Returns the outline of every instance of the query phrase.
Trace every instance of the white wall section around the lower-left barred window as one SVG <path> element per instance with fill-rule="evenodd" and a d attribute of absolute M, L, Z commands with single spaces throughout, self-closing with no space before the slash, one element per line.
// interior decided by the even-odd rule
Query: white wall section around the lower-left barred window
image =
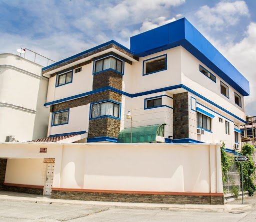
<path fill-rule="evenodd" d="M 79 131 L 88 132 L 90 104 L 69 109 L 68 124 L 51 126 L 52 113 L 49 116 L 48 136 Z"/>

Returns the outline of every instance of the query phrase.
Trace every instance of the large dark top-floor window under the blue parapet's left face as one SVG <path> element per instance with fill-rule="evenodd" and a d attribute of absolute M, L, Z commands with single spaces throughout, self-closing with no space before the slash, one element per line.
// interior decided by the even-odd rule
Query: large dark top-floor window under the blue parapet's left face
<path fill-rule="evenodd" d="M 143 75 L 167 69 L 166 55 L 157 56 L 143 61 Z"/>

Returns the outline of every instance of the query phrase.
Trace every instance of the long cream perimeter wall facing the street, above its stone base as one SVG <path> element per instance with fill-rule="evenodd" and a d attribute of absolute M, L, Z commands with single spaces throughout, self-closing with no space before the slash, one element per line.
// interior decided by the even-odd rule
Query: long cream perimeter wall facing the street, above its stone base
<path fill-rule="evenodd" d="M 40 147 L 47 153 L 39 153 Z M 0 144 L 0 157 L 55 158 L 55 188 L 223 192 L 220 148 L 214 144 Z M 30 163 L 22 161 L 27 180 L 41 175 L 40 167 L 30 171 Z M 21 173 L 19 165 L 15 172 Z"/>

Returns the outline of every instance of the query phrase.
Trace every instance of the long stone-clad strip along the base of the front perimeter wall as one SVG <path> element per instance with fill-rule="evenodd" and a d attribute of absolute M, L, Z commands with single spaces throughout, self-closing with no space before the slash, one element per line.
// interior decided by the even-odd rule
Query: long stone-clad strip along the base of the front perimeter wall
<path fill-rule="evenodd" d="M 107 201 L 155 204 L 207 204 L 223 205 L 223 196 L 158 195 L 158 194 L 118 194 L 74 191 L 52 191 L 52 199 L 83 201 Z"/>

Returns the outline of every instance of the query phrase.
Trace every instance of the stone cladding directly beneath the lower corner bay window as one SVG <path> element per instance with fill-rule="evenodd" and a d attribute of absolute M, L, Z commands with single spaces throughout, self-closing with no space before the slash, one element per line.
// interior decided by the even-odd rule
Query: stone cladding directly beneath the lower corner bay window
<path fill-rule="evenodd" d="M 111 117 L 103 117 L 89 120 L 88 138 L 92 137 L 114 137 L 120 132 L 120 120 Z"/>

